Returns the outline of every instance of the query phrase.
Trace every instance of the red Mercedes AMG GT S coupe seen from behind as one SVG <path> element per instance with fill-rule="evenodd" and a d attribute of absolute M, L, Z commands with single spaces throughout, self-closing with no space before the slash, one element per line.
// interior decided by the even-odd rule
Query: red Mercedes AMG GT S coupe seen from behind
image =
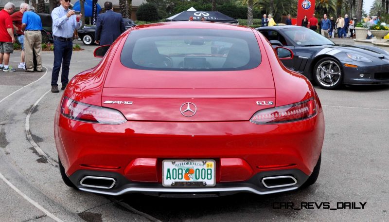
<path fill-rule="evenodd" d="M 97 48 L 95 56 L 109 46 Z M 255 29 L 136 26 L 68 84 L 54 135 L 64 182 L 121 195 L 269 194 L 318 178 L 318 95 Z"/>

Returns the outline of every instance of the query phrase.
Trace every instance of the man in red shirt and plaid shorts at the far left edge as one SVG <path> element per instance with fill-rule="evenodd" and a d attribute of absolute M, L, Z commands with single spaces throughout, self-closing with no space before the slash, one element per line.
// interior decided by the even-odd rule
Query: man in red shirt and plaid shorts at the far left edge
<path fill-rule="evenodd" d="M 0 71 L 15 72 L 8 65 L 9 54 L 14 52 L 14 26 L 12 24 L 11 14 L 15 11 L 15 5 L 8 2 L 4 9 L 0 11 Z"/>

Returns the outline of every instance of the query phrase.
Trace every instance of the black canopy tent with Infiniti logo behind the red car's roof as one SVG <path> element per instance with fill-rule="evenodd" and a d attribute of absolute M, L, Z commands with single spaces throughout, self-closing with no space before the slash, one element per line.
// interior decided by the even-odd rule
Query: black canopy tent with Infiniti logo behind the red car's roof
<path fill-rule="evenodd" d="M 201 17 L 204 17 L 207 21 L 238 24 L 238 20 L 232 19 L 231 17 L 216 11 L 183 11 L 165 20 L 166 21 L 188 21 L 189 17 L 191 16 L 193 16 L 194 21 L 201 21 Z"/>

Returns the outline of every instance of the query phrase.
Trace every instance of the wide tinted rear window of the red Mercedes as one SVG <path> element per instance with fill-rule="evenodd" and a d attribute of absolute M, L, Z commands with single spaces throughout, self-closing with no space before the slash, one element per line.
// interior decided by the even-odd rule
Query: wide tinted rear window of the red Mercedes
<path fill-rule="evenodd" d="M 153 29 L 131 31 L 120 60 L 142 70 L 228 71 L 257 67 L 261 53 L 253 32 Z"/>

